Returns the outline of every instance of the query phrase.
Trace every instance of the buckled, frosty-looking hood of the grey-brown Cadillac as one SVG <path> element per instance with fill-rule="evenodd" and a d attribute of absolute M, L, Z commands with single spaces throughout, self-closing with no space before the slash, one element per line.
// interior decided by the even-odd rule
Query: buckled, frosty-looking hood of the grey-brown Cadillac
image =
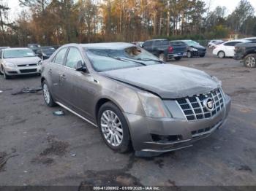
<path fill-rule="evenodd" d="M 203 71 L 171 64 L 157 64 L 129 69 L 104 71 L 116 79 L 159 95 L 161 98 L 184 98 L 219 87 L 220 82 Z"/>

